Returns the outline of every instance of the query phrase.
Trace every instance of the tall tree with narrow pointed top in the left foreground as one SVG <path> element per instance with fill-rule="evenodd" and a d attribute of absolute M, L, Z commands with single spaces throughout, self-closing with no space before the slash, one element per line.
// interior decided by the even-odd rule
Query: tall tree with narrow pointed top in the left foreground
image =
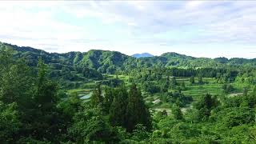
<path fill-rule="evenodd" d="M 26 133 L 38 140 L 54 141 L 53 135 L 60 133 L 62 118 L 57 110 L 58 85 L 47 78 L 46 65 L 40 59 L 38 62 L 38 76 L 34 86 L 33 106 L 23 122 L 26 122 Z"/>

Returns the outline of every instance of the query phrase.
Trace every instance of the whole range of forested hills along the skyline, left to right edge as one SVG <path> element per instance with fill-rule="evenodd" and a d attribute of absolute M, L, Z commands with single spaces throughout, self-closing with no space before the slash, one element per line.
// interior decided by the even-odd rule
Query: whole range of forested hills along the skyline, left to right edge
<path fill-rule="evenodd" d="M 117 51 L 89 50 L 88 52 L 69 52 L 65 54 L 47 53 L 31 47 L 20 47 L 6 43 L 0 43 L 0 48 L 10 48 L 16 52 L 19 58 L 26 58 L 31 66 L 35 66 L 38 58 L 42 58 L 56 70 L 63 67 L 73 71 L 75 68 L 87 67 L 91 70 L 98 70 L 100 73 L 114 74 L 119 70 L 131 70 L 137 67 L 216 67 L 216 66 L 250 66 L 256 67 L 256 58 L 194 58 L 177 53 L 165 53 L 161 56 L 134 58 Z"/>

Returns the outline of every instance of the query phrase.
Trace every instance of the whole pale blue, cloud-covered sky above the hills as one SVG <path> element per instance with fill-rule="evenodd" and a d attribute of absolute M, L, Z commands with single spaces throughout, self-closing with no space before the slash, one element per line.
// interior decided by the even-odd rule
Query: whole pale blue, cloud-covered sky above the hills
<path fill-rule="evenodd" d="M 0 42 L 58 53 L 256 58 L 256 1 L 1 1 Z"/>

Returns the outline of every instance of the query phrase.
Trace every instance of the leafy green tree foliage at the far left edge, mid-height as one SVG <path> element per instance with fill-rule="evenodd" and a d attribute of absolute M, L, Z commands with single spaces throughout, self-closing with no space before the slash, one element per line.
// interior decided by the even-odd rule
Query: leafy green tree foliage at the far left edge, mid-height
<path fill-rule="evenodd" d="M 20 107 L 30 93 L 32 78 L 26 63 L 15 61 L 12 54 L 10 49 L 0 50 L 0 100 L 4 103 L 17 102 Z"/>

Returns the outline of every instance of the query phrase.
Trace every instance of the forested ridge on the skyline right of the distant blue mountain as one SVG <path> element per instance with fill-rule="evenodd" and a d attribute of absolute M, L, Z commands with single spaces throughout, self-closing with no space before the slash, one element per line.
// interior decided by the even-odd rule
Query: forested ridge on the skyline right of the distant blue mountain
<path fill-rule="evenodd" d="M 194 58 L 184 54 L 165 53 L 150 58 L 140 58 L 144 66 L 166 66 L 182 68 L 216 67 L 216 66 L 256 66 L 256 58 Z"/>

